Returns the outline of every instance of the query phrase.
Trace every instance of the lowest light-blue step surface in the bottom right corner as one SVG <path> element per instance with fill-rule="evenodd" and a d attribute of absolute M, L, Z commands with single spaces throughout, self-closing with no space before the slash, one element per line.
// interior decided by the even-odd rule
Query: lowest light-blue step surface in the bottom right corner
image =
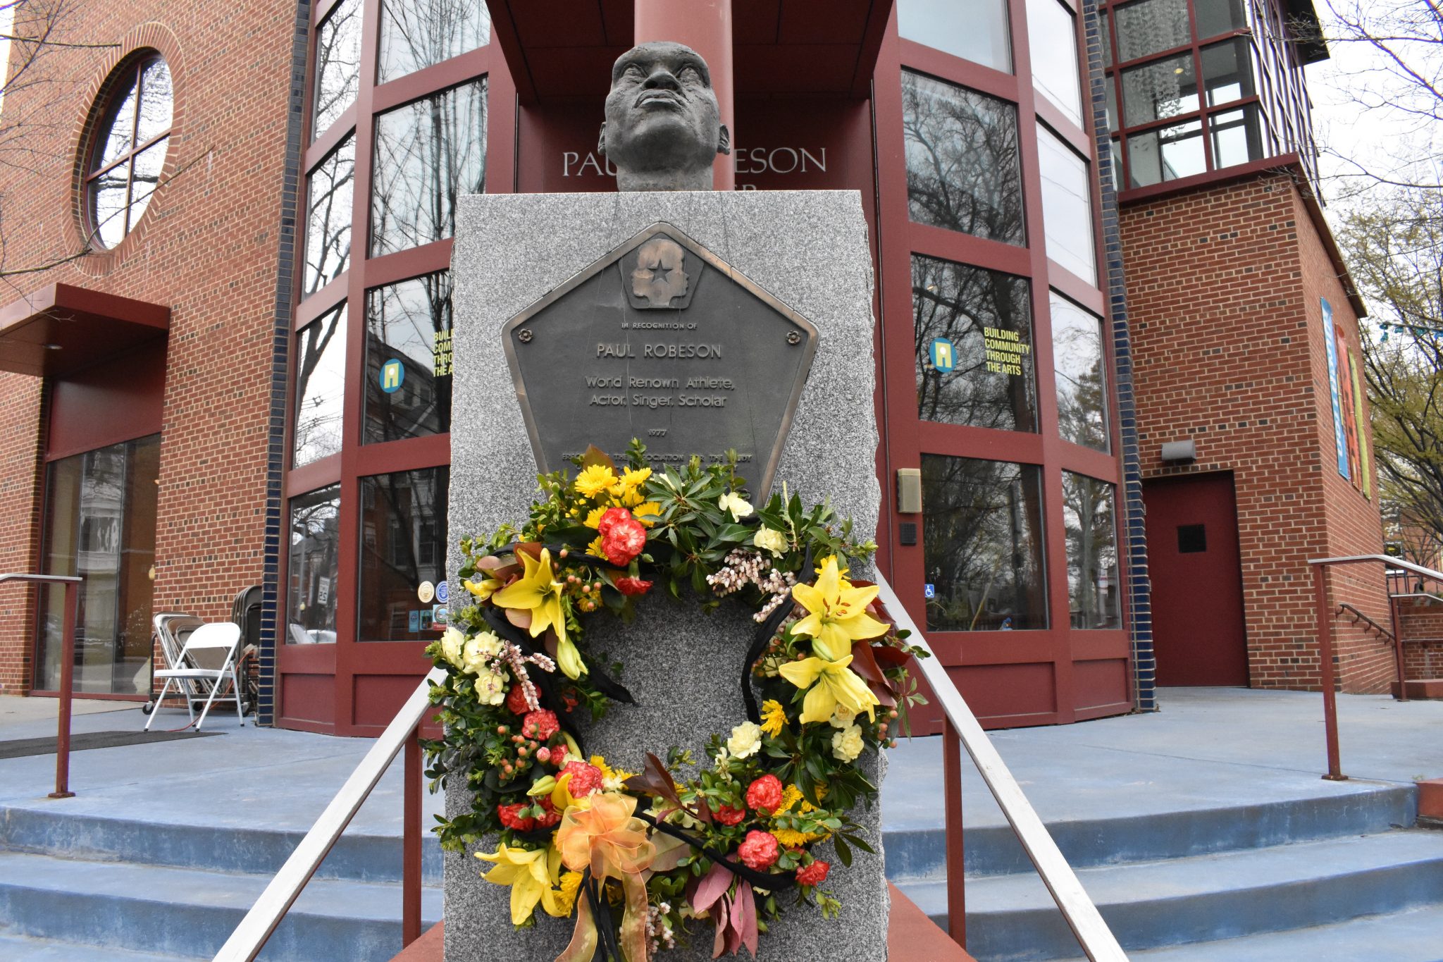
<path fill-rule="evenodd" d="M 1443 906 L 1364 916 L 1293 932 L 1133 952 L 1131 958 L 1146 962 L 1443 962 Z"/>

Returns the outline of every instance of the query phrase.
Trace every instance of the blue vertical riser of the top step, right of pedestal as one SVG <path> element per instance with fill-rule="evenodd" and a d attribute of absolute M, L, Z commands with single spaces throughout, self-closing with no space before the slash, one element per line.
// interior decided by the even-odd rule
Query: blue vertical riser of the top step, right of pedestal
<path fill-rule="evenodd" d="M 1087 868 L 1367 835 L 1414 824 L 1418 813 L 1414 786 L 1378 783 L 1369 787 L 1349 795 L 1255 805 L 1053 819 L 1048 822 L 1048 831 L 1069 865 Z M 900 884 L 945 873 L 945 838 L 941 825 L 886 831 L 887 878 Z M 965 864 L 968 878 L 1032 871 L 1032 861 L 1007 825 L 968 826 Z"/>

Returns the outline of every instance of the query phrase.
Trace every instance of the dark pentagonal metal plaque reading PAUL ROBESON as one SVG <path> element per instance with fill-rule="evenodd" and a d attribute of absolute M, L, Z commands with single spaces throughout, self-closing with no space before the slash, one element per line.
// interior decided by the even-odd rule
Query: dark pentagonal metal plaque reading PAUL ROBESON
<path fill-rule="evenodd" d="M 671 224 L 654 224 L 502 327 L 543 472 L 631 438 L 652 467 L 720 462 L 765 498 L 817 329 Z"/>

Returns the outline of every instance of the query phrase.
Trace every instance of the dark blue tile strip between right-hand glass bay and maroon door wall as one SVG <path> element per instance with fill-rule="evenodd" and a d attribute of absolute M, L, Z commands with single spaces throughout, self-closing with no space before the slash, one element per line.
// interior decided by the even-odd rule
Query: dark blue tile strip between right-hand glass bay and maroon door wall
<path fill-rule="evenodd" d="M 1127 280 L 1123 273 L 1123 239 L 1118 229 L 1117 185 L 1113 183 L 1111 134 L 1107 128 L 1107 78 L 1102 72 L 1102 35 L 1097 0 L 1082 1 L 1087 37 L 1088 89 L 1092 97 L 1092 133 L 1098 143 L 1098 179 L 1102 185 L 1102 248 L 1107 297 L 1113 314 L 1113 385 L 1117 424 L 1123 441 L 1123 541 L 1127 551 L 1128 639 L 1133 650 L 1134 707 L 1156 711 L 1153 658 L 1152 581 L 1147 575 L 1147 531 L 1143 513 L 1143 469 L 1137 454 L 1137 404 L 1133 395 L 1133 342 L 1127 327 Z"/>

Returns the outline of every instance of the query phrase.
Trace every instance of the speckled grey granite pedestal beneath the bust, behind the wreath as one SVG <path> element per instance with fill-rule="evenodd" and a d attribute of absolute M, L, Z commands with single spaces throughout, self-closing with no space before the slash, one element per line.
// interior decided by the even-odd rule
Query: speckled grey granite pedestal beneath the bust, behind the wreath
<path fill-rule="evenodd" d="M 450 571 L 465 535 L 491 534 L 525 519 L 535 495 L 535 462 L 517 410 L 502 352 L 502 325 L 649 224 L 681 228 L 736 271 L 817 326 L 820 345 L 778 467 L 808 502 L 831 499 L 866 538 L 876 531 L 877 433 L 873 408 L 872 257 L 856 192 L 678 192 L 595 195 L 489 195 L 460 202 L 452 261 L 455 281 L 455 368 L 450 473 Z M 700 443 L 700 441 L 698 441 Z M 752 492 L 765 500 L 765 492 Z M 864 571 L 854 570 L 854 577 Z M 452 586 L 463 597 L 459 584 Z M 612 764 L 639 770 L 644 754 L 670 746 L 704 757 L 710 734 L 745 720 L 739 691 L 742 661 L 753 635 L 749 612 L 723 604 L 701 614 L 694 601 L 645 597 L 635 623 L 608 617 L 589 623 L 587 646 L 620 661 L 635 705 L 615 705 L 596 725 L 583 725 L 587 750 Z M 880 782 L 885 759 L 864 756 Z M 468 805 L 460 789 L 447 811 Z M 834 864 L 825 888 L 843 903 L 841 919 L 789 907 L 760 942 L 759 958 L 775 962 L 885 959 L 887 887 L 882 873 L 880 813 L 854 818 L 876 855 L 854 852 Z M 495 839 L 485 839 L 494 851 Z M 566 946 L 573 920 L 540 917 L 512 929 L 509 890 L 481 878 L 486 865 L 470 854 L 446 857 L 446 959 L 548 962 Z M 540 914 L 540 913 L 538 913 Z M 662 955 L 675 962 L 711 958 L 710 922 L 696 926 L 688 948 Z"/>

